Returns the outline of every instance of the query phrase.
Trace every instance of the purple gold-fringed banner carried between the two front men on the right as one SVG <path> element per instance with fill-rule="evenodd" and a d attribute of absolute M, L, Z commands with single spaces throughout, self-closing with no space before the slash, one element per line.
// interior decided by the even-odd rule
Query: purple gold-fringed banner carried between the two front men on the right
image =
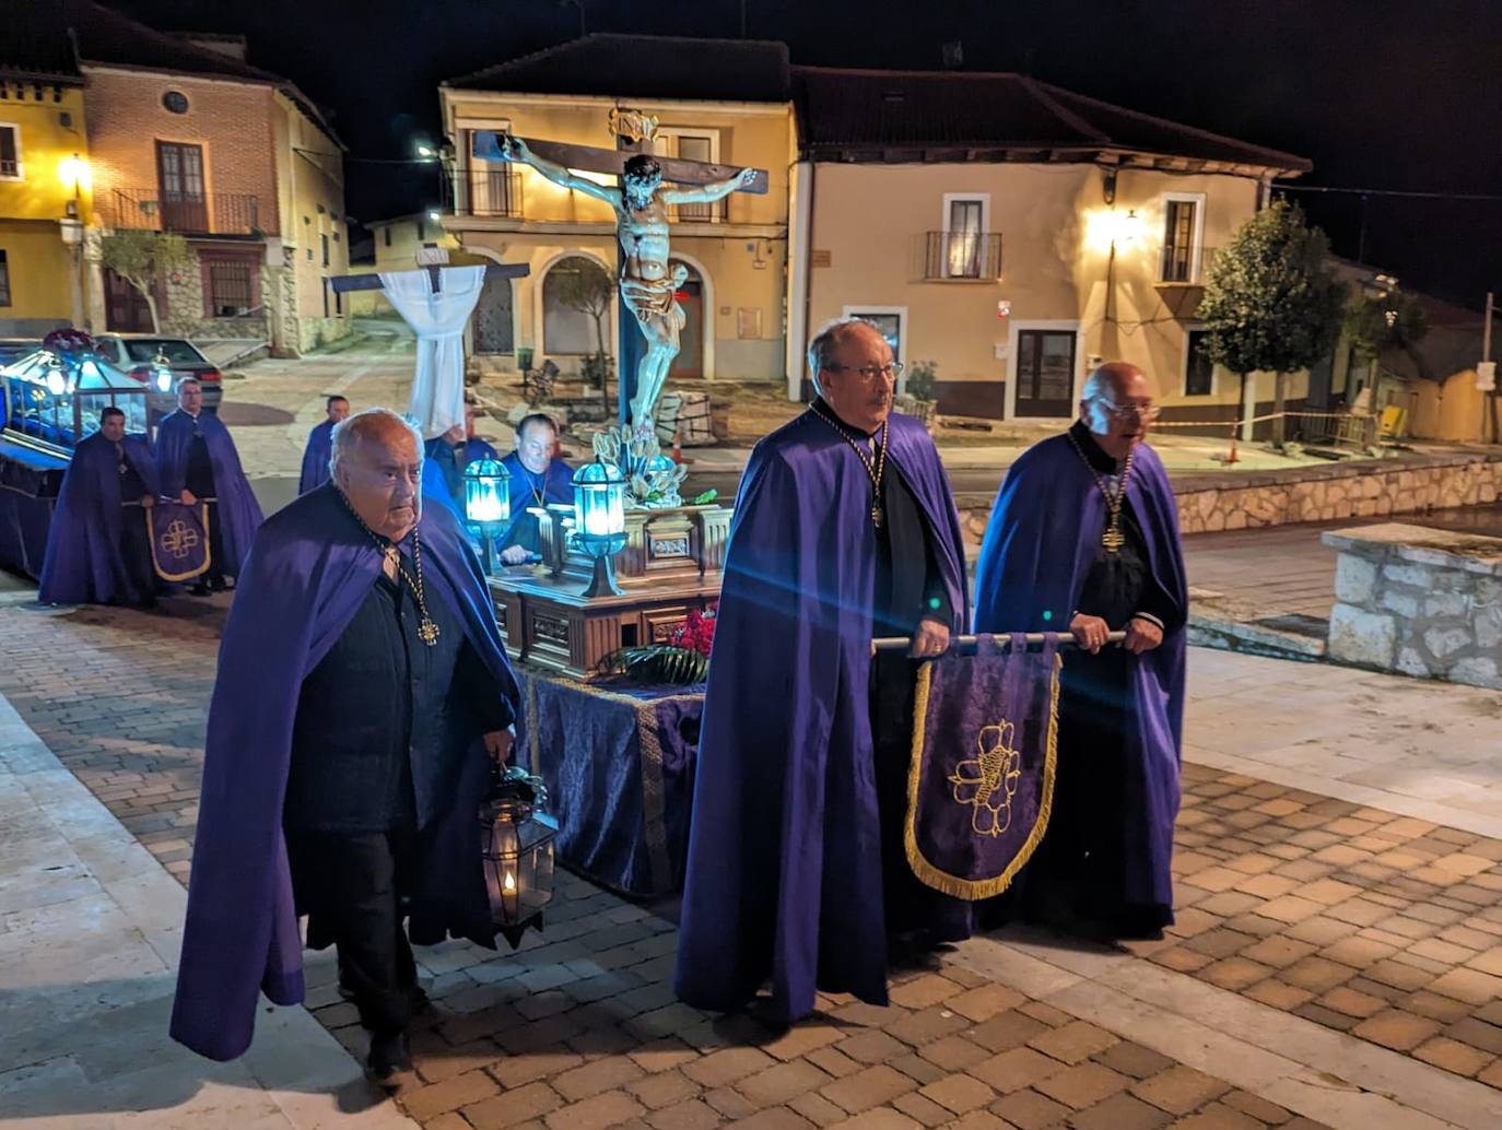
<path fill-rule="evenodd" d="M 1005 638 L 1000 638 L 1005 639 Z M 957 899 L 1000 894 L 1038 848 L 1053 804 L 1059 636 L 1027 651 L 976 636 L 973 656 L 918 672 L 907 861 Z"/>

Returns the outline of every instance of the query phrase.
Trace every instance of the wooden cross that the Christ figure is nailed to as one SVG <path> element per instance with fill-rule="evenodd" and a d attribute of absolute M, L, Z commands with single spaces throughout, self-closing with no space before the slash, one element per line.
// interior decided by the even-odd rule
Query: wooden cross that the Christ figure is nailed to
<path fill-rule="evenodd" d="M 472 134 L 470 155 L 479 161 L 505 161 L 502 146 L 509 135 L 503 131 L 496 129 L 479 129 Z M 584 173 L 608 173 L 617 177 L 617 185 L 620 185 L 622 192 L 625 191 L 623 183 L 619 180 L 625 173 L 626 162 L 640 155 L 650 153 L 644 141 L 629 140 L 623 134 L 616 135 L 616 149 L 595 149 L 592 146 L 574 146 L 563 141 L 533 141 L 532 138 L 523 138 L 536 156 L 544 161 L 551 161 L 556 165 L 562 165 L 568 170 L 584 171 Z M 740 173 L 739 167 L 734 165 L 716 165 L 707 161 L 685 161 L 682 158 L 665 158 L 650 153 L 653 161 L 662 170 L 662 180 L 673 182 L 676 185 L 712 185 L 715 182 L 728 180 Z M 766 170 L 756 170 L 756 179 L 749 183 L 737 188 L 737 192 L 749 192 L 753 195 L 766 195 L 769 186 L 769 177 Z M 620 242 L 616 242 L 616 279 L 619 281 L 623 275 L 625 263 L 622 261 Z M 706 314 L 706 318 L 712 320 L 713 312 Z M 625 303 L 620 299 L 619 290 L 616 294 L 616 327 L 617 327 L 617 390 L 619 390 L 619 413 L 620 422 L 625 425 L 631 419 L 629 404 L 637 393 L 637 371 L 643 354 L 646 353 L 646 344 L 640 333 L 635 333 L 635 318 L 625 309 Z"/>

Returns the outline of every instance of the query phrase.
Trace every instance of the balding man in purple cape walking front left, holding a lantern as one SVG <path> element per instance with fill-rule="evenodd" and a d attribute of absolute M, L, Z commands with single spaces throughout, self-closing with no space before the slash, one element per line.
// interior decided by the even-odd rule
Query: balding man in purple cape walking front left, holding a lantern
<path fill-rule="evenodd" d="M 261 527 L 230 609 L 171 1034 L 245 1052 L 258 993 L 302 1001 L 308 914 L 371 1031 L 371 1076 L 397 1089 L 409 936 L 494 944 L 476 813 L 517 687 L 463 530 L 422 507 L 418 434 L 357 413 L 333 429 L 332 476 Z"/>

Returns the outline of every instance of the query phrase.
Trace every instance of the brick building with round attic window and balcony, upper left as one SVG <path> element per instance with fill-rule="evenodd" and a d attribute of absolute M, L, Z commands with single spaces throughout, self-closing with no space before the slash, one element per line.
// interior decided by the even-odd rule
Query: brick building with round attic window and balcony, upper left
<path fill-rule="evenodd" d="M 147 303 L 99 258 L 116 230 L 186 237 L 191 269 L 156 294 L 162 332 L 246 338 L 299 353 L 348 332 L 329 279 L 348 270 L 342 146 L 240 36 L 165 35 L 89 0 L 63 0 L 84 83 L 95 222 L 87 323 L 150 332 Z"/>

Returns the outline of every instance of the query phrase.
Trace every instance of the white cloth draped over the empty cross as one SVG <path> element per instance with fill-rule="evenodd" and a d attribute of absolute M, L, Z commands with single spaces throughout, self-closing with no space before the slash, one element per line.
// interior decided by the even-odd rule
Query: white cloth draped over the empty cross
<path fill-rule="evenodd" d="M 418 335 L 407 414 L 425 440 L 464 423 L 464 327 L 485 284 L 484 266 L 442 267 L 440 275 L 434 294 L 427 269 L 380 272 L 386 297 Z"/>

